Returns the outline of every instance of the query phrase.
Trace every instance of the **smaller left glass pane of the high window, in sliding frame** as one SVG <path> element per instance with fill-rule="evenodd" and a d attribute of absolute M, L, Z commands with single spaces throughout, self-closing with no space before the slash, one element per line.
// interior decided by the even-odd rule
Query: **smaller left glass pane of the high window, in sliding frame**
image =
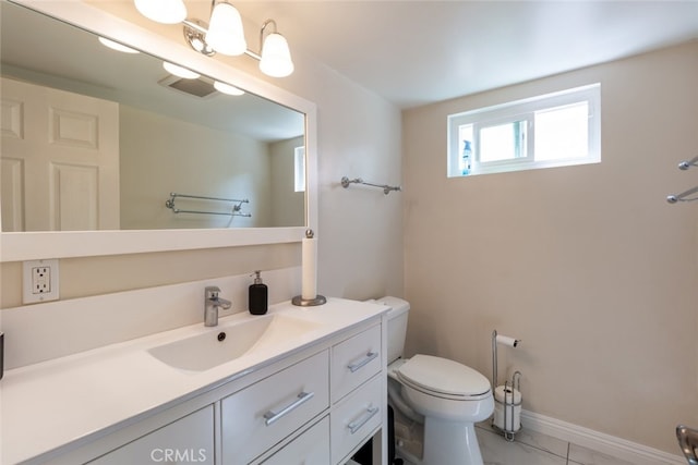
<path fill-rule="evenodd" d="M 526 157 L 526 121 L 480 130 L 480 162 Z"/>

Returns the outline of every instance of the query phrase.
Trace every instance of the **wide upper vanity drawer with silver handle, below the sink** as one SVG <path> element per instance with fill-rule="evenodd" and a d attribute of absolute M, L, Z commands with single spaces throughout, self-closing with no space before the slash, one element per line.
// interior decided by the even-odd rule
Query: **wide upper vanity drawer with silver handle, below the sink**
<path fill-rule="evenodd" d="M 323 351 L 221 401 L 222 463 L 248 464 L 329 406 Z"/>

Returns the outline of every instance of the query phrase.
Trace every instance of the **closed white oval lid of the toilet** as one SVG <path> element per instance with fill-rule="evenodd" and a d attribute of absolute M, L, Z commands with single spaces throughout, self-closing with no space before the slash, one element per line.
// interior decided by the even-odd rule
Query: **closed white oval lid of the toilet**
<path fill-rule="evenodd" d="M 398 375 L 417 389 L 435 394 L 471 397 L 490 391 L 482 374 L 458 362 L 431 355 L 414 355 L 399 367 Z"/>

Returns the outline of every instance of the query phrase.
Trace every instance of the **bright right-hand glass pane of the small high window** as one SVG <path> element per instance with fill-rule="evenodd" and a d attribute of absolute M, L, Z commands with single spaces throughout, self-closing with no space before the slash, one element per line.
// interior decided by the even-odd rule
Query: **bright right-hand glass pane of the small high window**
<path fill-rule="evenodd" d="M 534 117 L 535 160 L 583 158 L 589 152 L 589 103 L 581 101 Z"/>

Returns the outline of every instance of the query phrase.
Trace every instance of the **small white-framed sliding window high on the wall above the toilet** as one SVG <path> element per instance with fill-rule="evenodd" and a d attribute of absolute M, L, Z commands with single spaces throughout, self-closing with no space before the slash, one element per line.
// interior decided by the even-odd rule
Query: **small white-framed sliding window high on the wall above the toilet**
<path fill-rule="evenodd" d="M 598 163 L 600 85 L 448 117 L 448 176 Z"/>

